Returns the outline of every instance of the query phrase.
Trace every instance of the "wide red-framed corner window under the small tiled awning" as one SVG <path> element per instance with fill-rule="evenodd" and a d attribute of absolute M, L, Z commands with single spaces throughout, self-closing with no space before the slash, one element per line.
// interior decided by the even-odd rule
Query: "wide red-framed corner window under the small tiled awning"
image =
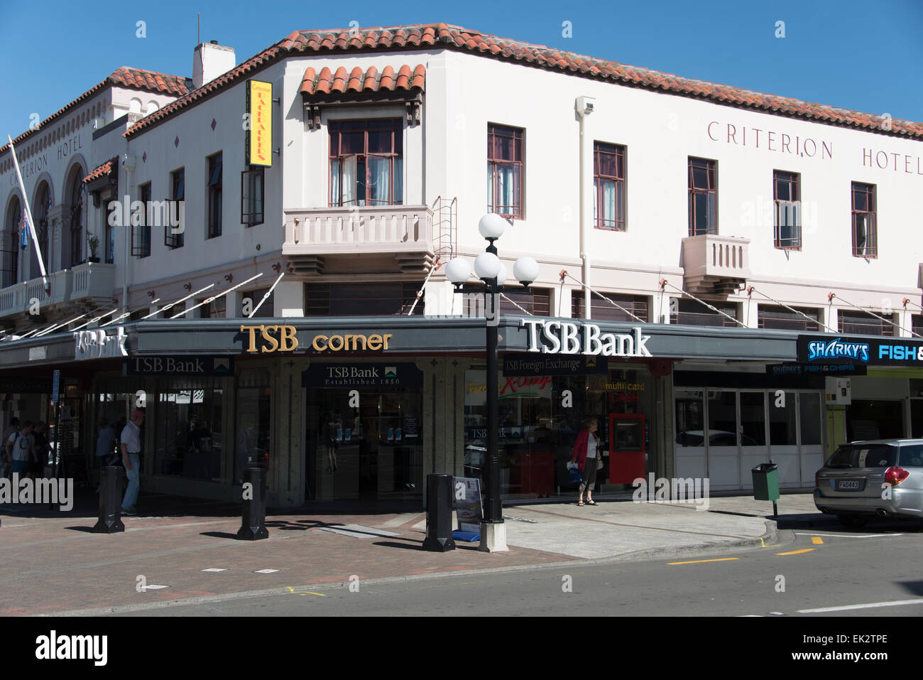
<path fill-rule="evenodd" d="M 331 120 L 330 205 L 402 204 L 401 118 Z"/>

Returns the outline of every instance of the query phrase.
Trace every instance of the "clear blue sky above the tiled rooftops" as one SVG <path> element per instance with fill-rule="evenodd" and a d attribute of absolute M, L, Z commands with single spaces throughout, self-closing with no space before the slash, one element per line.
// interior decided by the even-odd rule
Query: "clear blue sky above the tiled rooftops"
<path fill-rule="evenodd" d="M 348 7 L 347 7 L 348 5 Z M 117 67 L 191 76 L 201 39 L 240 63 L 293 30 L 445 22 L 569 52 L 923 121 L 923 0 L 496 0 L 401 3 L 0 0 L 0 135 L 53 114 Z M 254 8 L 257 8 L 254 10 Z M 389 8 L 385 8 L 389 7 Z M 147 37 L 137 37 L 137 22 Z M 562 25 L 571 22 L 572 37 Z M 785 37 L 776 37 L 777 21 Z"/>

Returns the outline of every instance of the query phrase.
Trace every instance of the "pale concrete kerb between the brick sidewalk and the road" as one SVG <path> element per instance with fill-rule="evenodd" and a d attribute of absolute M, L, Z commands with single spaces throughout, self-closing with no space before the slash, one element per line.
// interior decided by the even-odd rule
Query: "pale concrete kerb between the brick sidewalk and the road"
<path fill-rule="evenodd" d="M 543 565 L 511 565 L 487 567 L 485 569 L 465 569 L 464 571 L 452 572 L 433 572 L 429 574 L 408 574 L 402 577 L 382 577 L 382 578 L 365 578 L 362 580 L 363 586 L 374 586 L 389 583 L 407 583 L 417 580 L 446 578 L 446 577 L 472 577 L 479 574 L 501 574 L 517 571 L 536 571 L 547 569 L 573 568 L 574 566 L 585 565 L 610 565 L 618 562 L 634 562 L 653 559 L 668 559 L 677 556 L 701 556 L 705 554 L 722 553 L 729 550 L 740 548 L 765 548 L 767 543 L 774 543 L 778 540 L 778 529 L 772 519 L 765 520 L 766 531 L 762 536 L 752 539 L 741 539 L 720 543 L 697 543 L 689 546 L 672 546 L 665 548 L 644 548 L 630 553 L 613 555 L 611 557 L 595 557 L 590 559 L 573 559 L 565 562 L 549 562 Z M 794 537 L 792 537 L 794 538 Z M 271 597 L 273 595 L 289 595 L 297 592 L 309 592 L 318 590 L 339 590 L 348 589 L 349 582 L 343 581 L 338 583 L 311 583 L 297 587 L 270 588 L 262 590 L 243 590 L 239 592 L 222 593 L 221 595 L 206 595 L 196 598 L 184 598 L 182 600 L 166 600 L 158 602 L 146 602 L 144 604 L 126 604 L 114 607 L 100 607 L 96 609 L 75 609 L 66 612 L 51 612 L 32 614 L 33 616 L 100 616 L 102 614 L 119 614 L 135 613 L 152 609 L 165 609 L 168 607 L 182 607 L 193 604 L 207 604 L 210 602 L 221 602 L 228 600 L 243 600 L 248 598 Z"/>

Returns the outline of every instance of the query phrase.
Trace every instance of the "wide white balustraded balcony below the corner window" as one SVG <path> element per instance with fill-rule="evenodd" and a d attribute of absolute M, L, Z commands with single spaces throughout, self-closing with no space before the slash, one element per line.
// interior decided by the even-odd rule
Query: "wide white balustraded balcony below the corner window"
<path fill-rule="evenodd" d="M 296 274 L 423 273 L 433 254 L 425 205 L 285 211 L 282 255 Z"/>

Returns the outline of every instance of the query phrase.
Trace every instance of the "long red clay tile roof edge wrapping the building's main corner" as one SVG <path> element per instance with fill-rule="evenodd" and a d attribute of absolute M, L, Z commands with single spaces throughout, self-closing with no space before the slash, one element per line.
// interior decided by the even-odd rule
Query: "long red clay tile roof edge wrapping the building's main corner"
<path fill-rule="evenodd" d="M 140 130 L 157 124 L 175 111 L 207 98 L 225 85 L 243 78 L 271 62 L 291 55 L 330 54 L 343 52 L 393 52 L 443 48 L 472 52 L 477 55 L 518 62 L 522 65 L 549 70 L 568 71 L 583 78 L 607 80 L 631 87 L 666 91 L 673 94 L 709 99 L 729 106 L 765 111 L 775 115 L 817 120 L 838 126 L 868 129 L 923 139 L 923 123 L 891 120 L 891 130 L 882 129 L 879 115 L 801 102 L 789 97 L 742 90 L 730 85 L 680 78 L 649 68 L 631 67 L 614 61 L 562 52 L 545 45 L 500 38 L 495 35 L 463 29 L 449 24 L 375 27 L 356 30 L 296 30 L 243 64 L 212 80 L 197 91 L 164 106 L 160 111 L 138 121 L 124 134 L 130 137 Z"/>

